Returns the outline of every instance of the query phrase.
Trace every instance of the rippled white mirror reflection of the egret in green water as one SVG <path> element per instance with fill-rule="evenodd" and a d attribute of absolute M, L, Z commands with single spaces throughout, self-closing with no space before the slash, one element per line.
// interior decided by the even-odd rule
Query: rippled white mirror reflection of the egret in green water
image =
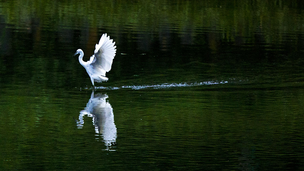
<path fill-rule="evenodd" d="M 108 98 L 108 95 L 100 93 L 94 95 L 93 91 L 87 106 L 80 111 L 77 126 L 79 128 L 83 126 L 83 116 L 92 117 L 95 132 L 102 136 L 105 145 L 108 147 L 107 149 L 109 149 L 116 142 L 117 130 L 114 124 L 113 109 L 110 103 L 106 102 L 106 98 Z"/>

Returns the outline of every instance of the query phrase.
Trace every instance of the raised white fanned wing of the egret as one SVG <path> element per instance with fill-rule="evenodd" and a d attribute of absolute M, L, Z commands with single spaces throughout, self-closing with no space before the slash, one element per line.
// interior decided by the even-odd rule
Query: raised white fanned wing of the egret
<path fill-rule="evenodd" d="M 105 76 L 105 72 L 111 70 L 112 62 L 116 53 L 116 46 L 107 33 L 103 34 L 99 43 L 95 46 L 94 55 L 90 58 L 90 65 L 93 65 L 98 74 Z"/>

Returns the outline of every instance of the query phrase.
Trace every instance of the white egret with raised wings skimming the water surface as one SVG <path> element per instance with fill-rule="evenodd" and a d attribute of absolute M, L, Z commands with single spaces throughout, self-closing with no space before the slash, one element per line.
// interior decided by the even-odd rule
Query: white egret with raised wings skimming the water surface
<path fill-rule="evenodd" d="M 79 62 L 87 70 L 93 84 L 93 89 L 95 89 L 94 82 L 108 81 L 108 78 L 105 77 L 105 72 L 109 72 L 112 67 L 116 53 L 116 46 L 114 44 L 113 39 L 110 39 L 110 36 L 107 37 L 107 33 L 105 33 L 100 38 L 99 43 L 96 44 L 94 54 L 89 61 L 85 62 L 82 60 L 84 53 L 81 49 L 78 49 L 73 55 L 80 54 L 78 57 Z"/>

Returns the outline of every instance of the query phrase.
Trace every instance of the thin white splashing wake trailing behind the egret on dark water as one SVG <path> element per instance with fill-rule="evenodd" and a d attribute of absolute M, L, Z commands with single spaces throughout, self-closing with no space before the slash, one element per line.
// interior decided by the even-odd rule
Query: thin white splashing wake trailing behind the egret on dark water
<path fill-rule="evenodd" d="M 194 83 L 163 83 L 163 84 L 156 84 L 156 85 L 123 85 L 121 87 L 96 87 L 96 89 L 106 89 L 106 90 L 116 90 L 116 89 L 133 89 L 133 90 L 140 90 L 140 89 L 168 89 L 174 87 L 190 87 L 190 86 L 200 86 L 200 85 L 216 85 L 216 84 L 225 84 L 228 81 L 206 81 L 206 82 L 194 82 Z M 91 89 L 91 88 L 85 88 Z"/>

